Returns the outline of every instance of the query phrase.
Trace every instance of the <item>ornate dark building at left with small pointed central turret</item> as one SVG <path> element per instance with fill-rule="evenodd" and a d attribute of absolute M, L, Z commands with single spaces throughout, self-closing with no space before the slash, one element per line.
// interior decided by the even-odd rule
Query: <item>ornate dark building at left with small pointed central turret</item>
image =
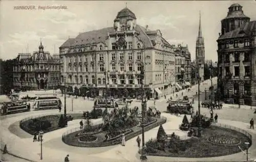
<path fill-rule="evenodd" d="M 57 88 L 60 84 L 59 55 L 44 51 L 40 42 L 39 50 L 18 53 L 13 63 L 13 87 L 26 90 Z"/>

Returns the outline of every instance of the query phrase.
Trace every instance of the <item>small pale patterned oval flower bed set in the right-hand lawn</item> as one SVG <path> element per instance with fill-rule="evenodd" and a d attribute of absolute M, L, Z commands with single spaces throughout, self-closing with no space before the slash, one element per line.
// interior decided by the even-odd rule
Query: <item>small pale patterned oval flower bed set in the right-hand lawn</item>
<path fill-rule="evenodd" d="M 235 137 L 228 136 L 226 134 L 224 135 L 217 135 L 209 137 L 208 140 L 212 143 L 218 144 L 218 145 L 239 145 L 241 143 L 241 140 Z"/>

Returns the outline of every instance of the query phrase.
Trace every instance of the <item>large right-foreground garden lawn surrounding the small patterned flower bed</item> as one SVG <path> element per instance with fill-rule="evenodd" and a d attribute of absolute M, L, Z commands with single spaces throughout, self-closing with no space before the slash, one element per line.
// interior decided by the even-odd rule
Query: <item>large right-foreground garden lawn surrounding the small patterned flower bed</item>
<path fill-rule="evenodd" d="M 231 137 L 230 139 L 239 139 L 241 142 L 233 145 L 220 145 L 208 140 L 212 137 Z M 236 140 L 233 141 L 236 142 Z M 172 157 L 224 156 L 241 152 L 238 146 L 245 150 L 246 146 L 244 143 L 247 141 L 250 141 L 250 139 L 241 132 L 211 126 L 210 128 L 203 129 L 201 138 L 193 137 L 188 140 L 170 139 L 165 141 L 164 144 L 152 139 L 146 143 L 146 152 L 147 155 Z M 227 143 L 231 143 L 231 141 Z"/>

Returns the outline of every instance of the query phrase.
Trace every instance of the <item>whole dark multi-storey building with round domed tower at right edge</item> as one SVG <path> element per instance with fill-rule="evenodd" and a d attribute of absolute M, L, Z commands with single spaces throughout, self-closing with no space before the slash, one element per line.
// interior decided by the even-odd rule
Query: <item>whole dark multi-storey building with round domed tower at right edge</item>
<path fill-rule="evenodd" d="M 227 102 L 256 105 L 256 21 L 233 4 L 221 20 L 218 88 Z"/>

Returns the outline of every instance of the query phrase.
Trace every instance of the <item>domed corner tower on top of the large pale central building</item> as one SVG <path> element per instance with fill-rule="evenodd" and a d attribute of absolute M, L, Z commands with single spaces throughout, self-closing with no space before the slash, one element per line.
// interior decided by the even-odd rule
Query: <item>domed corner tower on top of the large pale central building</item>
<path fill-rule="evenodd" d="M 129 31 L 136 26 L 136 16 L 127 7 L 118 12 L 114 20 L 115 31 Z"/>

